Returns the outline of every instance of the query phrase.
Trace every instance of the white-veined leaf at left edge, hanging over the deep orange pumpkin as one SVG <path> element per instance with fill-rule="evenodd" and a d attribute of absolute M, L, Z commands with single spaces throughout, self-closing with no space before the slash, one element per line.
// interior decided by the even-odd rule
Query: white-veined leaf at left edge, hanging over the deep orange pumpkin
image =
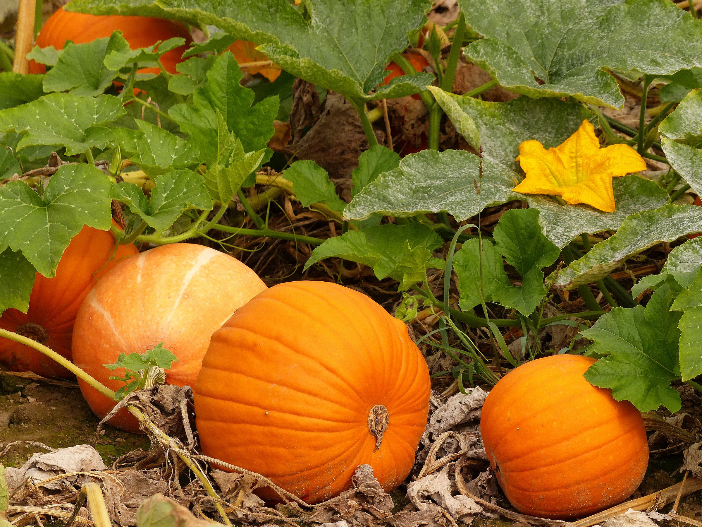
<path fill-rule="evenodd" d="M 60 167 L 42 196 L 24 181 L 0 186 L 0 251 L 22 251 L 39 273 L 53 277 L 64 249 L 84 225 L 110 228 L 111 188 L 110 179 L 87 164 Z"/>

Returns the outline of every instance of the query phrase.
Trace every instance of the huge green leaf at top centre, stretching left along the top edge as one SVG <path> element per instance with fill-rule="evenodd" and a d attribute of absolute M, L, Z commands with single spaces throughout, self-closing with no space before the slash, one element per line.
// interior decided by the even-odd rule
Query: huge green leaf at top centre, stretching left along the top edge
<path fill-rule="evenodd" d="M 152 12 L 144 4 L 79 0 L 71 10 Z M 237 39 L 263 44 L 260 50 L 296 77 L 352 98 L 401 97 L 432 80 L 430 74 L 397 77 L 392 86 L 368 95 L 387 75 L 390 58 L 409 45 L 407 32 L 423 24 L 429 0 L 314 0 L 299 11 L 287 0 L 161 0 L 158 6 L 172 16 L 197 19 Z"/>

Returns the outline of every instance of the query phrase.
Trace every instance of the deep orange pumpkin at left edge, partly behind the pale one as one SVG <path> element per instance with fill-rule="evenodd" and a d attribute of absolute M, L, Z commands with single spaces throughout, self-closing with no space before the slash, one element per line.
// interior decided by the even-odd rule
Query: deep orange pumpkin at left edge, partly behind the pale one
<path fill-rule="evenodd" d="M 137 253 L 131 244 L 115 247 L 110 232 L 84 226 L 63 252 L 55 276 L 37 273 L 27 313 L 7 309 L 0 317 L 0 327 L 34 339 L 70 360 L 71 334 L 81 302 L 102 275 Z M 9 339 L 0 338 L 0 362 L 15 372 L 73 377 L 44 353 Z"/>

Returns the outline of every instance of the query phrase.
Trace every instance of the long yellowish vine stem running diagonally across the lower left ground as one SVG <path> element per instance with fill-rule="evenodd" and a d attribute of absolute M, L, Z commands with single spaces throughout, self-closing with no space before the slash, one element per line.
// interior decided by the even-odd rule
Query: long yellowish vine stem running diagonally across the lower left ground
<path fill-rule="evenodd" d="M 107 388 L 107 386 L 100 383 L 97 379 L 92 377 L 87 372 L 81 370 L 77 365 L 74 365 L 74 363 L 72 363 L 67 358 L 60 356 L 51 348 L 47 348 L 46 346 L 44 346 L 44 344 L 39 344 L 39 342 L 37 341 L 29 339 L 23 335 L 13 333 L 11 331 L 4 330 L 2 328 L 0 328 L 0 337 L 5 337 L 6 339 L 19 342 L 20 344 L 25 344 L 25 346 L 29 346 L 32 349 L 36 349 L 37 351 L 44 353 L 44 355 L 46 355 L 48 358 L 53 358 L 53 360 L 65 367 L 67 370 L 69 370 L 69 372 L 72 372 L 76 377 L 86 382 L 89 386 L 92 386 L 94 389 L 102 393 L 102 395 L 104 395 L 105 397 L 114 399 L 114 391 Z M 143 425 L 145 429 L 148 429 L 152 434 L 154 434 L 161 446 L 163 446 L 166 449 L 174 450 L 176 452 L 178 457 L 180 457 L 180 459 L 183 460 L 187 467 L 193 471 L 195 476 L 197 476 L 197 479 L 199 479 L 202 482 L 203 486 L 207 490 L 207 493 L 211 495 L 211 497 L 218 500 L 219 496 L 215 492 L 212 483 L 210 483 L 207 477 L 203 474 L 199 466 L 197 466 L 197 463 L 192 462 L 190 456 L 187 455 L 187 452 L 185 452 L 183 448 L 180 448 L 180 445 L 178 445 L 178 443 L 173 438 L 171 438 L 171 436 L 168 436 L 167 434 L 164 434 L 163 431 L 159 430 L 150 421 L 150 419 L 146 415 L 144 415 L 144 413 L 141 410 L 139 410 L 139 408 L 136 408 L 135 406 L 130 404 L 127 404 L 126 407 L 134 415 L 134 417 L 139 419 L 139 422 Z M 215 505 L 217 507 L 218 512 L 220 513 L 220 516 L 222 516 L 222 520 L 225 523 L 225 525 L 231 526 L 232 522 L 229 521 L 229 518 L 227 518 L 227 514 L 225 513 L 222 504 L 219 501 L 216 501 Z"/>

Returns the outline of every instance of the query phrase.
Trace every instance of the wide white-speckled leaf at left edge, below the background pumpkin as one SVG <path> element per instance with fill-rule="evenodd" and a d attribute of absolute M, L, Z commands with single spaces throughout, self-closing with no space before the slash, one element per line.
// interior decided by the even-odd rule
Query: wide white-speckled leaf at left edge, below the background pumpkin
<path fill-rule="evenodd" d="M 65 146 L 66 155 L 105 148 L 114 134 L 105 124 L 124 115 L 121 100 L 110 95 L 86 98 L 51 93 L 15 108 L 0 110 L 0 131 L 22 134 L 17 150 L 28 146 Z"/>

